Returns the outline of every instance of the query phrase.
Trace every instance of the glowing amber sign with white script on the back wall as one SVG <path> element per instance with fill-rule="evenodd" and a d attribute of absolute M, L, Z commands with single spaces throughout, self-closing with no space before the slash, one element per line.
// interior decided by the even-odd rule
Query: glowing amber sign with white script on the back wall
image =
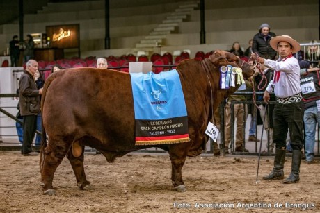
<path fill-rule="evenodd" d="M 50 47 L 61 49 L 79 48 L 79 24 L 46 26 L 47 41 Z"/>

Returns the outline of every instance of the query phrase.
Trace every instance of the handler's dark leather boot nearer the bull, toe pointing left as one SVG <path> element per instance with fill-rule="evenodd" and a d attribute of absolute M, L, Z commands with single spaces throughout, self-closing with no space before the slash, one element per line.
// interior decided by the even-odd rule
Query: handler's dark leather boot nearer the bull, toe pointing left
<path fill-rule="evenodd" d="M 285 164 L 285 149 L 275 148 L 274 167 L 268 176 L 262 177 L 264 180 L 283 179 L 283 167 Z"/>

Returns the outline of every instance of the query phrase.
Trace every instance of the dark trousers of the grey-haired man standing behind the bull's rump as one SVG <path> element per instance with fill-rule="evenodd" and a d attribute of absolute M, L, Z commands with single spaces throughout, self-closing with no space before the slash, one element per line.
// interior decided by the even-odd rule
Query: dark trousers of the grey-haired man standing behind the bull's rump
<path fill-rule="evenodd" d="M 31 144 L 35 137 L 37 128 L 37 115 L 24 116 L 24 143 L 22 144 L 22 153 L 30 153 L 32 151 Z"/>

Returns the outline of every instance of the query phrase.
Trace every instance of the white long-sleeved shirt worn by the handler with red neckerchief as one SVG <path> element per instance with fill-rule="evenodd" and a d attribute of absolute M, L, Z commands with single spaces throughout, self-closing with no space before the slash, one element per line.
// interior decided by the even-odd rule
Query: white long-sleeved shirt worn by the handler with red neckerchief
<path fill-rule="evenodd" d="M 266 91 L 273 92 L 274 87 L 275 96 L 278 98 L 287 98 L 301 92 L 300 66 L 294 56 L 282 60 L 279 58 L 278 61 L 265 59 L 264 65 L 275 70 L 273 80 L 266 87 Z M 277 75 L 276 71 L 280 71 L 280 74 Z"/>

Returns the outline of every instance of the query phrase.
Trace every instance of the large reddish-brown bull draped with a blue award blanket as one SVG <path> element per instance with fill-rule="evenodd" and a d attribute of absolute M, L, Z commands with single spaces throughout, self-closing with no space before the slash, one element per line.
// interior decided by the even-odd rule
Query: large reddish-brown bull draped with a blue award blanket
<path fill-rule="evenodd" d="M 205 60 L 184 60 L 177 66 L 181 80 L 190 142 L 155 145 L 168 151 L 172 162 L 171 180 L 177 191 L 186 191 L 182 167 L 186 156 L 202 153 L 208 140 L 205 130 L 212 112 L 232 94 L 220 89 L 219 67 L 241 67 L 244 78 L 253 76 L 248 63 L 232 53 L 216 51 Z M 211 96 L 213 100 L 211 101 Z M 40 171 L 44 194 L 54 194 L 52 180 L 56 168 L 67 155 L 80 189 L 90 183 L 83 169 L 84 146 L 100 151 L 108 162 L 116 157 L 149 148 L 135 146 L 134 102 L 129 74 L 114 71 L 75 68 L 58 71 L 47 79 L 42 94 L 42 139 Z"/>

